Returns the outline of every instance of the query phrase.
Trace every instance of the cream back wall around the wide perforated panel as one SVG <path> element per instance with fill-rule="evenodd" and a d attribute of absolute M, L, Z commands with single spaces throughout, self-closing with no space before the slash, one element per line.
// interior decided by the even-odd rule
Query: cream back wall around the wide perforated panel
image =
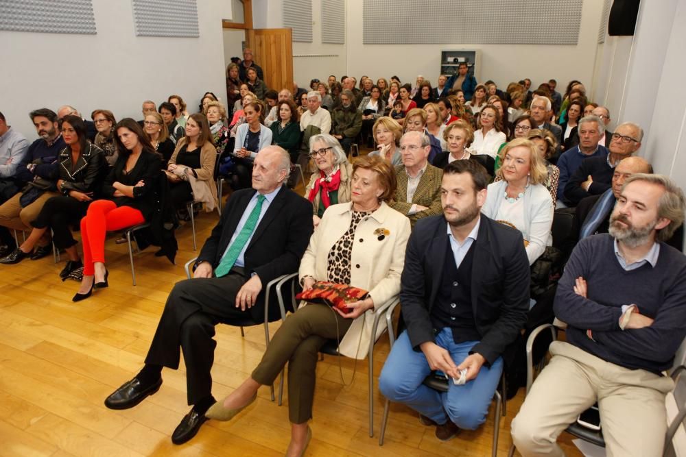
<path fill-rule="evenodd" d="M 493 79 L 505 88 L 508 83 L 525 77 L 533 88 L 554 78 L 565 88 L 570 79 L 590 84 L 593 77 L 598 29 L 602 16 L 602 1 L 584 0 L 577 45 L 473 45 L 453 43 L 445 45 L 363 45 L 362 0 L 348 0 L 347 72 L 372 79 L 398 75 L 403 82 L 412 82 L 416 75 L 429 78 L 436 84 L 440 73 L 440 51 L 451 49 L 480 49 L 479 82 Z M 402 8 L 401 3 L 398 3 Z M 392 17 L 390 14 L 389 17 Z M 399 33 L 402 33 L 399 31 Z M 523 33 L 525 33 L 523 31 Z"/>

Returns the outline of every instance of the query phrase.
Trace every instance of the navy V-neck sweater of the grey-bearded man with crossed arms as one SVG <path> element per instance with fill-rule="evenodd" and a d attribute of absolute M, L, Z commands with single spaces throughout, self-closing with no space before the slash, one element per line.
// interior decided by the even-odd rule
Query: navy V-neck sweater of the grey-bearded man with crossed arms
<path fill-rule="evenodd" d="M 573 290 L 580 276 L 588 284 L 587 299 Z M 619 328 L 622 305 L 630 304 L 654 319 L 650 327 Z M 646 262 L 625 271 L 615 256 L 612 236 L 584 238 L 572 251 L 560 278 L 554 310 L 556 317 L 569 325 L 568 343 L 629 369 L 654 373 L 669 369 L 686 336 L 686 257 L 660 243 L 655 267 Z"/>

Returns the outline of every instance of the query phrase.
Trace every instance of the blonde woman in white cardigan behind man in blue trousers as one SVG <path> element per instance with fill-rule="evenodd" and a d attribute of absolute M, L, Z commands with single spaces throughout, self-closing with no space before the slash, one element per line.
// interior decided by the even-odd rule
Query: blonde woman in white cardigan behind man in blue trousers
<path fill-rule="evenodd" d="M 488 185 L 481 212 L 517 228 L 524 238 L 529 264 L 533 264 L 545 247 L 552 245 L 555 206 L 545 188 L 545 159 L 526 138 L 510 141 L 502 153 L 503 164 L 496 173 L 500 180 Z"/>

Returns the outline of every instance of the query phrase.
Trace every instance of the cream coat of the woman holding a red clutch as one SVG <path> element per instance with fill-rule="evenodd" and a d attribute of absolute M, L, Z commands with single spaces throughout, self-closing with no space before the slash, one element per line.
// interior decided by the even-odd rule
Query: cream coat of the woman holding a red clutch
<path fill-rule="evenodd" d="M 300 262 L 300 278 L 309 275 L 318 281 L 327 280 L 327 257 L 333 244 L 350 228 L 351 206 L 352 203 L 339 203 L 329 206 L 324 212 Z M 377 229 L 385 229 L 388 234 L 379 240 L 379 233 L 375 234 Z M 378 210 L 357 225 L 351 256 L 350 285 L 369 291 L 375 308 L 400 293 L 400 276 L 410 230 L 410 220 L 386 203 L 381 203 Z M 341 354 L 359 359 L 366 357 L 374 323 L 373 312 L 368 310 L 355 319 L 340 342 Z M 375 340 L 383 330 L 386 330 L 386 319 L 379 321 Z"/>

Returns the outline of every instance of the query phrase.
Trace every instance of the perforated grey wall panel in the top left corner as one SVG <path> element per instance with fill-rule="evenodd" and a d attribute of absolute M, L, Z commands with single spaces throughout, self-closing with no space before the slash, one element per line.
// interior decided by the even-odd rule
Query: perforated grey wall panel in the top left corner
<path fill-rule="evenodd" d="M 0 0 L 0 30 L 49 34 L 95 34 L 93 2 L 91 0 Z"/>

